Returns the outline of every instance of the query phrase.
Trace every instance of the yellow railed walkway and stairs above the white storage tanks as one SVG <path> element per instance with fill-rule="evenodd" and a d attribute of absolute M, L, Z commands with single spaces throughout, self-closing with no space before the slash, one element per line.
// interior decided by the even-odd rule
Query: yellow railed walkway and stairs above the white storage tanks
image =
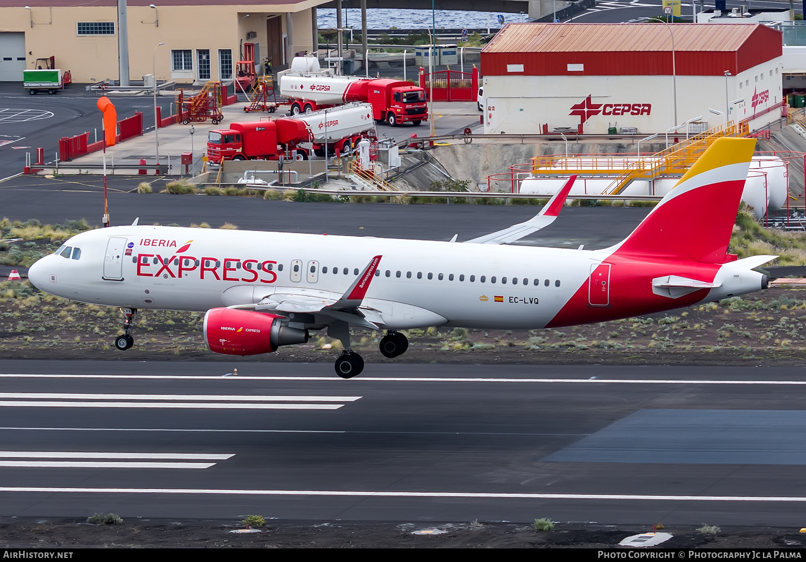
<path fill-rule="evenodd" d="M 801 115 L 800 119 L 806 129 L 806 116 Z M 546 173 L 601 175 L 603 171 L 617 171 L 617 176 L 603 192 L 604 195 L 617 195 L 634 180 L 653 180 L 659 176 L 683 175 L 717 138 L 738 137 L 747 132 L 746 123 L 729 121 L 642 159 L 613 155 L 586 155 L 573 158 L 566 158 L 563 155 L 536 156 L 531 159 L 532 173 L 534 175 Z"/>

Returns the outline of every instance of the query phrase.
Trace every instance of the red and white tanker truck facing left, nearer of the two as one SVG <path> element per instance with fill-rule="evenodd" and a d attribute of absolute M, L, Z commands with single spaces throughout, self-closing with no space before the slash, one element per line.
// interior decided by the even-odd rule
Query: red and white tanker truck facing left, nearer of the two
<path fill-rule="evenodd" d="M 210 130 L 207 159 L 212 164 L 224 160 L 305 160 L 312 143 L 314 153 L 325 155 L 352 151 L 361 138 L 376 138 L 372 105 L 351 103 L 332 110 L 299 114 L 293 118 L 232 123 L 227 129 Z"/>

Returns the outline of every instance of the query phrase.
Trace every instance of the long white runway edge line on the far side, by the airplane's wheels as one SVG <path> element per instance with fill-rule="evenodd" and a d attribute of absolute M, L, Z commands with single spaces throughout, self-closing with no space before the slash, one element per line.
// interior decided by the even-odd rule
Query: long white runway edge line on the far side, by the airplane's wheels
<path fill-rule="evenodd" d="M 0 374 L 0 378 L 123 378 L 123 379 L 146 379 L 146 380 L 189 380 L 189 381 L 329 381 L 344 383 L 338 377 L 222 377 L 212 375 L 188 375 L 180 374 Z M 492 377 L 359 377 L 353 382 L 567 382 L 567 383 L 588 383 L 588 384 L 740 384 L 740 385 L 795 385 L 806 386 L 806 381 L 742 381 L 742 380 L 710 380 L 710 379 L 685 379 L 685 378 L 492 378 Z M 347 383 L 349 384 L 349 383 Z M 218 397 L 221 399 L 221 397 Z M 320 399 L 317 397 L 315 399 Z M 359 397 L 360 398 L 360 397 Z M 312 398 L 313 399 L 313 398 Z"/>

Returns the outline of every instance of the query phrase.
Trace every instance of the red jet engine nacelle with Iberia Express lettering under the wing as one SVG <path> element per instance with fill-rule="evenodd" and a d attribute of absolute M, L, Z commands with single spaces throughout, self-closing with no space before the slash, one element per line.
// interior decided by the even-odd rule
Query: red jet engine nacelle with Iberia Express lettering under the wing
<path fill-rule="evenodd" d="M 308 341 L 308 330 L 289 328 L 282 320 L 276 314 L 210 308 L 204 315 L 204 340 L 211 351 L 227 355 L 272 353 L 280 345 Z"/>

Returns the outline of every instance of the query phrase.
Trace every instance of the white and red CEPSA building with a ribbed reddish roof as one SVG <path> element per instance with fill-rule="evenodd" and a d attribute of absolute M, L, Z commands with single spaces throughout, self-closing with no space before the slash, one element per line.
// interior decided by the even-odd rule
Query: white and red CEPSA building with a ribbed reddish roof
<path fill-rule="evenodd" d="M 484 132 L 756 130 L 782 116 L 782 71 L 758 23 L 509 23 L 481 52 Z"/>

